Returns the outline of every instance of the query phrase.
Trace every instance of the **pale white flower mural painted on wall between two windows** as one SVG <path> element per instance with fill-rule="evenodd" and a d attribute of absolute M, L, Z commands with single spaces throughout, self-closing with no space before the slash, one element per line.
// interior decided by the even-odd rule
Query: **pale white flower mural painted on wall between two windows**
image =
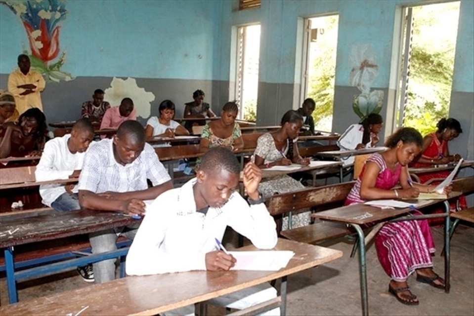
<path fill-rule="evenodd" d="M 350 52 L 350 65 L 350 84 L 361 92 L 354 95 L 352 109 L 362 120 L 371 113 L 379 113 L 384 104 L 384 91 L 370 89 L 379 74 L 377 56 L 370 45 L 354 45 Z"/>

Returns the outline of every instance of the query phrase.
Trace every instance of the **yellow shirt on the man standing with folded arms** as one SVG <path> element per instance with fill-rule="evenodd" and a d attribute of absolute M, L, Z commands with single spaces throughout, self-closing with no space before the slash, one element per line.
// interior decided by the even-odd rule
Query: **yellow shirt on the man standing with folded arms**
<path fill-rule="evenodd" d="M 26 89 L 18 88 L 19 85 L 32 83 L 36 85 L 36 89 L 33 89 L 33 93 L 27 95 L 20 95 L 20 93 L 25 92 Z M 26 110 L 31 108 L 39 108 L 43 111 L 43 103 L 41 103 L 40 92 L 44 90 L 46 82 L 43 79 L 43 76 L 33 70 L 30 70 L 27 75 L 17 69 L 8 76 L 8 91 L 10 91 L 15 97 L 16 109 L 21 115 Z"/>

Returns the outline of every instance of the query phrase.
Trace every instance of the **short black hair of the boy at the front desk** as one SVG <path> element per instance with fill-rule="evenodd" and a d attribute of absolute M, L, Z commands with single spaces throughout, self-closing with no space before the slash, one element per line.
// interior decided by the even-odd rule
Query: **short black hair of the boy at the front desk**
<path fill-rule="evenodd" d="M 222 169 L 230 173 L 240 173 L 240 163 L 229 149 L 217 146 L 204 154 L 199 169 L 210 173 Z"/>

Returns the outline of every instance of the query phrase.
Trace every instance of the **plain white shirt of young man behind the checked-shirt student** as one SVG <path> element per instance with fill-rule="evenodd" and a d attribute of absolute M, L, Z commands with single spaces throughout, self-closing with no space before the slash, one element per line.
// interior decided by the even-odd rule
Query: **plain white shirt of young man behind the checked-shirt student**
<path fill-rule="evenodd" d="M 50 181 L 57 179 L 68 179 L 74 170 L 81 170 L 86 153 L 72 154 L 68 148 L 68 139 L 71 134 L 63 137 L 55 137 L 44 144 L 43 155 L 41 155 L 35 171 L 37 181 Z M 62 184 L 48 184 L 40 186 L 40 195 L 43 203 L 51 206 L 60 195 L 66 192 Z M 77 186 L 73 189 L 77 193 Z"/>

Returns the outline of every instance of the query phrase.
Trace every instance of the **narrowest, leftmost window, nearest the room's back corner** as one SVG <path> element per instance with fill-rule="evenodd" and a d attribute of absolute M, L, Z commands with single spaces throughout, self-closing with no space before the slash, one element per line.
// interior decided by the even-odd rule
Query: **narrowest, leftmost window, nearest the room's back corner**
<path fill-rule="evenodd" d="M 257 119 L 259 56 L 260 25 L 238 27 L 234 99 L 240 104 L 239 118 L 250 121 Z"/>

